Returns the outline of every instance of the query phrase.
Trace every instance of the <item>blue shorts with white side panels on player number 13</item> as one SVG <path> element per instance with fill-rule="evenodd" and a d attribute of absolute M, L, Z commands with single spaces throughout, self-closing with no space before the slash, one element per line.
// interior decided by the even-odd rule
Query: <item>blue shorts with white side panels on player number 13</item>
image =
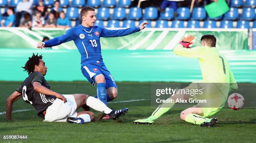
<path fill-rule="evenodd" d="M 85 64 L 81 67 L 82 70 L 82 74 L 84 75 L 84 77 L 87 78 L 87 80 L 93 85 L 95 86 L 95 77 L 99 74 L 103 74 L 103 76 L 105 77 L 105 81 L 106 81 L 106 88 L 109 87 L 115 87 L 117 88 L 115 81 L 112 77 L 112 75 L 110 74 L 110 72 L 108 71 L 107 67 L 105 66 L 105 64 L 100 64 L 100 65 L 95 65 L 95 64 Z"/>

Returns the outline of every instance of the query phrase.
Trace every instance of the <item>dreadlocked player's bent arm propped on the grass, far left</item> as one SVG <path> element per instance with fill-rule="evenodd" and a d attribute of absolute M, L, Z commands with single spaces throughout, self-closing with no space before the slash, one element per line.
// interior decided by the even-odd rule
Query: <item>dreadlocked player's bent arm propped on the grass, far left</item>
<path fill-rule="evenodd" d="M 6 119 L 11 120 L 12 119 L 12 108 L 13 103 L 20 99 L 21 93 L 18 91 L 14 91 L 13 94 L 11 94 L 8 99 L 6 100 Z"/>

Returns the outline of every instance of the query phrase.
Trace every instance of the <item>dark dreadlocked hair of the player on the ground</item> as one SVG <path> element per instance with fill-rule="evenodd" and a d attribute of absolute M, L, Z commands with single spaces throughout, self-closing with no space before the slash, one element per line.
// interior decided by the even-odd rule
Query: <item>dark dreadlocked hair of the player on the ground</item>
<path fill-rule="evenodd" d="M 38 53 L 35 55 L 33 53 L 32 57 L 28 57 L 28 61 L 26 62 L 25 66 L 22 67 L 25 72 L 28 72 L 28 75 L 34 72 L 35 65 L 39 65 L 39 59 L 42 59 L 42 55 L 38 56 Z"/>

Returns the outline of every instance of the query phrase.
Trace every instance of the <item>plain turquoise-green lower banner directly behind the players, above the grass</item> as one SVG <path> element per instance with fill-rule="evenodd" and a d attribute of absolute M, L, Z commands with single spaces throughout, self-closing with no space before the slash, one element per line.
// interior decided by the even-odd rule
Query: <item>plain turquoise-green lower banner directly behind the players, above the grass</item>
<path fill-rule="evenodd" d="M 236 81 L 256 83 L 256 51 L 220 50 L 228 59 Z M 77 50 L 0 49 L 0 81 L 23 81 L 23 72 L 32 53 L 43 54 L 46 79 L 51 81 L 87 81 L 82 75 Z M 202 79 L 198 59 L 175 55 L 172 50 L 102 50 L 104 63 L 115 81 L 175 81 Z"/>

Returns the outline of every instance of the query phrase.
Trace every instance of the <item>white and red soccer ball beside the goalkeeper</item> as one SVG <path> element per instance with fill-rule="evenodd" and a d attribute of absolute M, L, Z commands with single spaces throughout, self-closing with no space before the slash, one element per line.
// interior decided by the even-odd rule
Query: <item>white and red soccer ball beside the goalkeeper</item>
<path fill-rule="evenodd" d="M 239 110 L 243 107 L 244 98 L 241 94 L 231 94 L 228 97 L 228 107 L 233 110 Z"/>

